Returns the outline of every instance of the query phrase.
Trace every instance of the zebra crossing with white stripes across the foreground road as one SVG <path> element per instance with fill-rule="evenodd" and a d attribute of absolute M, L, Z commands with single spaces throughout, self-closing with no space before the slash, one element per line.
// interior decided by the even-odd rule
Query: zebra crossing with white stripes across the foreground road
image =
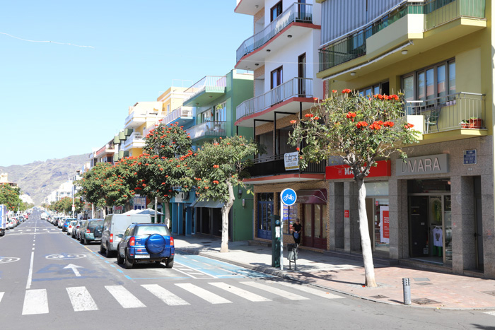
<path fill-rule="evenodd" d="M 274 298 L 282 297 L 286 300 L 310 300 L 310 297 L 325 297 L 327 299 L 343 298 L 339 295 L 327 293 L 316 288 L 310 288 L 306 285 L 297 285 L 294 283 L 264 281 L 241 281 L 235 284 L 225 282 L 202 283 L 201 287 L 192 283 L 174 283 L 169 284 L 170 288 L 164 288 L 158 284 L 142 284 L 137 287 L 126 288 L 124 285 L 105 285 L 104 290 L 84 286 L 65 288 L 70 305 L 66 305 L 66 311 L 89 312 L 100 310 L 100 306 L 107 306 L 108 301 L 115 302 L 115 306 L 125 309 L 145 308 L 147 307 L 141 300 L 151 299 L 151 305 L 156 306 L 155 299 L 161 300 L 165 305 L 181 306 L 195 305 L 200 302 L 206 302 L 212 305 L 231 304 L 234 302 L 269 302 Z M 281 288 L 280 288 L 281 287 Z M 283 288 L 283 289 L 282 289 Z M 287 288 L 287 290 L 284 290 Z M 141 290 L 142 289 L 142 290 Z M 301 295 L 294 293 L 294 290 L 301 291 Z M 132 292 L 133 291 L 133 292 Z M 151 298 L 148 294 L 151 293 Z M 184 296 L 182 296 L 182 294 Z M 182 297 L 180 297 L 180 295 Z M 308 297 L 309 296 L 309 297 Z M 0 292 L 0 307 L 7 300 L 7 295 Z M 140 297 L 140 298 L 138 298 Z M 59 298 L 59 297 L 57 297 Z M 199 298 L 199 300 L 197 299 Z M 100 303 L 96 300 L 102 300 Z M 52 300 L 57 300 L 55 297 Z M 148 303 L 148 302 L 146 302 Z M 71 308 L 69 307 L 71 306 Z M 54 307 L 54 310 L 59 308 Z M 50 294 L 47 289 L 26 290 L 22 308 L 23 315 L 47 314 L 50 312 Z"/>

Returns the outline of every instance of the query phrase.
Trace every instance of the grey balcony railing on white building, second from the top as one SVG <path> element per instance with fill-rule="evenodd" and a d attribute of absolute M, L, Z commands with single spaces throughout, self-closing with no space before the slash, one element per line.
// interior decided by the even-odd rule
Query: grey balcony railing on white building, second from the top
<path fill-rule="evenodd" d="M 263 110 L 276 105 L 279 102 L 288 100 L 292 97 L 312 98 L 313 97 L 313 79 L 310 78 L 293 78 L 286 83 L 276 86 L 263 95 L 245 100 L 236 108 L 237 120 L 262 112 Z"/>

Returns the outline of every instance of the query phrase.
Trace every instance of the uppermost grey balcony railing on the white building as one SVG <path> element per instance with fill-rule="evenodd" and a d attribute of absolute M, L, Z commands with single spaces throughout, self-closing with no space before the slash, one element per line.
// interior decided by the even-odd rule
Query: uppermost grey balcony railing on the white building
<path fill-rule="evenodd" d="M 254 52 L 257 48 L 262 47 L 272 37 L 274 37 L 281 30 L 284 30 L 287 25 L 293 22 L 313 22 L 313 5 L 311 4 L 292 4 L 279 17 L 275 18 L 272 23 L 267 25 L 259 33 L 256 33 L 252 37 L 249 37 L 243 42 L 243 45 L 237 49 L 237 61 L 239 61 L 244 55 Z"/>

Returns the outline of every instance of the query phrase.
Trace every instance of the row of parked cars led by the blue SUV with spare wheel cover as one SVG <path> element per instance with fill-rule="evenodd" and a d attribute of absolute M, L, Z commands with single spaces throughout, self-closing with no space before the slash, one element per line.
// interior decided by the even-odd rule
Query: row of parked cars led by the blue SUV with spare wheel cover
<path fill-rule="evenodd" d="M 117 257 L 127 269 L 142 262 L 173 267 L 175 245 L 170 230 L 164 224 L 151 223 L 149 215 L 110 214 L 105 219 L 89 220 L 54 216 L 47 220 L 81 244 L 99 242 L 101 254 Z"/>

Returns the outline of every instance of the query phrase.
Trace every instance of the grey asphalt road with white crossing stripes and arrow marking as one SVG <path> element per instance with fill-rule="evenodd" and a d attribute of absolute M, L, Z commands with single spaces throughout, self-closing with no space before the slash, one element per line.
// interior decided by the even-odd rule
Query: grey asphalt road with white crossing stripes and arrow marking
<path fill-rule="evenodd" d="M 495 329 L 482 311 L 384 305 L 177 252 L 123 269 L 54 225 L 0 237 L 0 329 Z"/>

